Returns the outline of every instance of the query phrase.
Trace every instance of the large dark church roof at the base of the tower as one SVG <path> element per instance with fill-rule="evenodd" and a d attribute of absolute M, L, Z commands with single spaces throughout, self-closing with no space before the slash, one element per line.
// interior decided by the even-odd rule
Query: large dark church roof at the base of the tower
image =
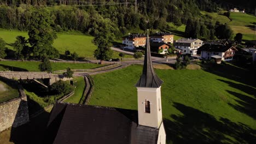
<path fill-rule="evenodd" d="M 137 111 L 57 102 L 44 143 L 156 143 L 159 129 L 138 125 Z"/>

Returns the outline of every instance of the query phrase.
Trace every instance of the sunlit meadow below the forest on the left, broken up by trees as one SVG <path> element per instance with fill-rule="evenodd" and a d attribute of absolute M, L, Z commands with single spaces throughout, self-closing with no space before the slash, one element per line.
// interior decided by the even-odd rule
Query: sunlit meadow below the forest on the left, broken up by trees
<path fill-rule="evenodd" d="M 27 32 L 0 29 L 0 37 L 3 38 L 8 44 L 14 43 L 18 35 L 22 35 L 28 38 Z M 77 52 L 80 57 L 94 58 L 93 54 L 96 46 L 91 42 L 94 37 L 75 33 L 58 33 L 57 37 L 58 38 L 54 40 L 53 46 L 56 47 L 56 49 L 59 50 L 61 54 L 64 54 L 66 50 L 69 50 L 71 53 Z M 8 47 L 9 49 L 13 49 L 11 46 Z M 125 58 L 131 57 L 132 56 L 125 55 Z M 114 52 L 113 58 L 119 58 L 118 52 Z"/>

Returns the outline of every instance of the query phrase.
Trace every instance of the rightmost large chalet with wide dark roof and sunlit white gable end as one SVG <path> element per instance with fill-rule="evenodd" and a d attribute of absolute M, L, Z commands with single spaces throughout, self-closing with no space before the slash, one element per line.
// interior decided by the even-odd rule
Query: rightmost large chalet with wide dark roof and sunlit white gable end
<path fill-rule="evenodd" d="M 221 61 L 231 61 L 237 49 L 232 45 L 214 45 L 204 44 L 200 47 L 201 57 L 206 60 L 216 59 L 217 63 Z"/>

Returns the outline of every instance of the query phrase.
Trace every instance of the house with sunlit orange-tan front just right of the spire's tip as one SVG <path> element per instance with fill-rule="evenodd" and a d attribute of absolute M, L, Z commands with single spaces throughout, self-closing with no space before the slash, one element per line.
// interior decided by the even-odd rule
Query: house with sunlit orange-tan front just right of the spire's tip
<path fill-rule="evenodd" d="M 150 36 L 152 43 L 171 43 L 173 44 L 173 34 L 171 33 L 155 33 Z"/>

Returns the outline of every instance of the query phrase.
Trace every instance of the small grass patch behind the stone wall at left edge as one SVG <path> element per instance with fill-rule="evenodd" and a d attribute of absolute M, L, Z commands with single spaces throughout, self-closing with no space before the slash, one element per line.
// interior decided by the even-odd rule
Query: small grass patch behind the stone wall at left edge
<path fill-rule="evenodd" d="M 11 82 L 0 81 L 0 103 L 19 97 L 17 86 Z"/>

